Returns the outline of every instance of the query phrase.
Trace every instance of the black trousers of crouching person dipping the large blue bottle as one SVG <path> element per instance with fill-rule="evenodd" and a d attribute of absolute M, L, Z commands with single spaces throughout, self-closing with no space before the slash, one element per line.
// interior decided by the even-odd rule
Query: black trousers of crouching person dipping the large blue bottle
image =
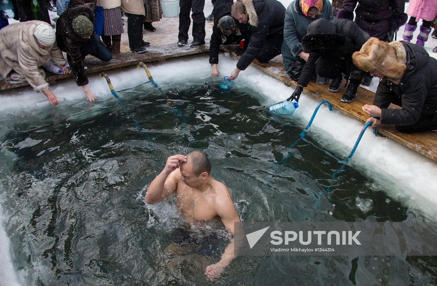
<path fill-rule="evenodd" d="M 350 61 L 352 62 L 352 61 Z M 353 63 L 347 61 L 333 61 L 328 58 L 320 57 L 316 62 L 316 73 L 322 78 L 338 78 L 341 74 L 347 75 L 358 68 Z M 360 85 L 363 78 L 349 79 L 354 85 Z"/>

